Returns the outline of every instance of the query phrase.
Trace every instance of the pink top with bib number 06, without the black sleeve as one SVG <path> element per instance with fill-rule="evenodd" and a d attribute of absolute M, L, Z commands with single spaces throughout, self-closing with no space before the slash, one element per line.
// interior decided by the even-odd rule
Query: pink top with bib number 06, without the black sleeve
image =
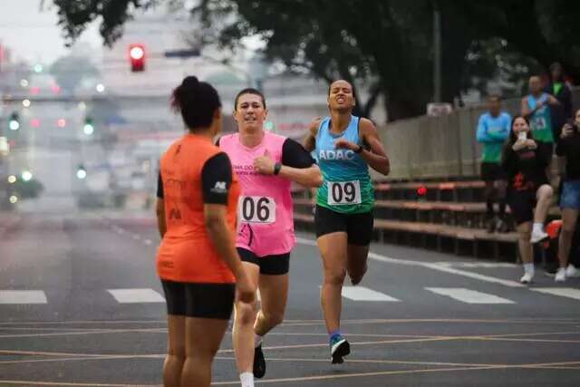
<path fill-rule="evenodd" d="M 219 140 L 219 148 L 229 156 L 241 187 L 236 246 L 256 256 L 286 254 L 295 245 L 290 180 L 254 170 L 254 160 L 265 154 L 275 162 L 282 162 L 285 140 L 267 131 L 255 148 L 243 145 L 238 133 Z"/>

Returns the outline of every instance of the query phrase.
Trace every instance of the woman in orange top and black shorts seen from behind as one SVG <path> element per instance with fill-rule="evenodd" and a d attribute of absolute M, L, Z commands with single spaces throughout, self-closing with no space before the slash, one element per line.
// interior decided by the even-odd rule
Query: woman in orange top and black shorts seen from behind
<path fill-rule="evenodd" d="M 188 133 L 160 161 L 157 273 L 168 309 L 166 387 L 208 387 L 211 364 L 226 333 L 236 285 L 254 300 L 234 244 L 239 187 L 226 153 L 212 143 L 221 130 L 218 92 L 189 76 L 171 103 Z"/>

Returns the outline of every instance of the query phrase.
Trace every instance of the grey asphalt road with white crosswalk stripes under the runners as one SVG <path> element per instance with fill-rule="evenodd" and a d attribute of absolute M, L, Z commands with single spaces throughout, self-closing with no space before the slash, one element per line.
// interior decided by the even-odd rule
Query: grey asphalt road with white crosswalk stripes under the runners
<path fill-rule="evenodd" d="M 285 324 L 257 385 L 577 386 L 580 280 L 373 245 L 343 293 L 353 354 L 329 360 L 314 237 L 299 236 Z M 0 386 L 160 385 L 167 324 L 149 214 L 0 213 Z M 227 334 L 216 385 L 239 385 Z"/>

